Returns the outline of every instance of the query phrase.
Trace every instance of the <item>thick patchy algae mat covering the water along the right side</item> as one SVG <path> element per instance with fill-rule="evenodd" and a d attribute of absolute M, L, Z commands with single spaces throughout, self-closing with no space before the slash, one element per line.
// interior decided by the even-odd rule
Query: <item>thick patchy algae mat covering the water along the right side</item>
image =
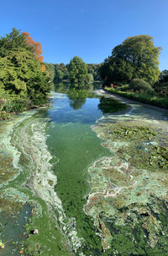
<path fill-rule="evenodd" d="M 84 210 L 100 232 L 104 252 L 165 255 L 167 130 L 135 117 L 107 119 L 113 123 L 102 119 L 92 129 L 113 156 L 89 167 L 92 193 Z"/>

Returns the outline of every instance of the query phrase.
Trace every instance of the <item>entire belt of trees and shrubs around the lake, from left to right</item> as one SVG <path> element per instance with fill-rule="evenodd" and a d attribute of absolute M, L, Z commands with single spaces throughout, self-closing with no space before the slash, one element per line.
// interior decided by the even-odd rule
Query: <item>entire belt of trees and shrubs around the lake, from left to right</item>
<path fill-rule="evenodd" d="M 1 119 L 47 103 L 53 81 L 70 81 L 77 90 L 90 90 L 93 81 L 102 81 L 114 93 L 132 98 L 138 93 L 139 101 L 140 95 L 167 98 L 168 70 L 160 73 L 160 51 L 150 35 L 137 35 L 115 46 L 100 64 L 84 63 L 77 56 L 68 64 L 44 63 L 40 43 L 13 29 L 0 38 Z M 166 102 L 156 105 L 168 107 Z"/>

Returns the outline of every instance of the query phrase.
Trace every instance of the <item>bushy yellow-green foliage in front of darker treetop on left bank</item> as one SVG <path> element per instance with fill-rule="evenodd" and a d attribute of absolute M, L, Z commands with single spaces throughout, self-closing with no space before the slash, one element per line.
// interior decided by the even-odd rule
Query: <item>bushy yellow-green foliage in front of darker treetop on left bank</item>
<path fill-rule="evenodd" d="M 17 52 L 8 52 L 7 57 L 0 57 L 0 66 L 0 82 L 10 95 L 46 101 L 49 77 L 42 71 L 41 63 L 32 52 L 22 48 Z"/>

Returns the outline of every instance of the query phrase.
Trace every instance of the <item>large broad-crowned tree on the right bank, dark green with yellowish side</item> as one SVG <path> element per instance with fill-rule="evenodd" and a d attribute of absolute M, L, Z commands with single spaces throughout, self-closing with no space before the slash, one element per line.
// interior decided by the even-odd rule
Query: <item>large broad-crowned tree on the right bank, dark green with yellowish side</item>
<path fill-rule="evenodd" d="M 128 84 L 131 79 L 144 79 L 151 85 L 158 80 L 160 48 L 155 47 L 150 35 L 129 37 L 114 47 L 100 68 L 102 79 Z"/>

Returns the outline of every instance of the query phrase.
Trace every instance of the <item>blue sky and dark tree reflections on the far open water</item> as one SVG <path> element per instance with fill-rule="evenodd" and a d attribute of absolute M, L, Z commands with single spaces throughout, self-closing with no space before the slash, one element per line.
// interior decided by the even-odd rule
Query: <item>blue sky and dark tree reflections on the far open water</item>
<path fill-rule="evenodd" d="M 57 111 L 51 115 L 51 120 L 56 120 L 58 123 L 92 124 L 102 117 L 102 113 L 113 113 L 127 108 L 125 104 L 113 98 L 96 95 L 93 87 L 89 90 L 76 90 L 71 88 L 71 84 L 59 83 L 55 84 L 53 95 L 53 107 Z M 52 113 L 52 109 L 49 111 L 50 113 Z"/>

